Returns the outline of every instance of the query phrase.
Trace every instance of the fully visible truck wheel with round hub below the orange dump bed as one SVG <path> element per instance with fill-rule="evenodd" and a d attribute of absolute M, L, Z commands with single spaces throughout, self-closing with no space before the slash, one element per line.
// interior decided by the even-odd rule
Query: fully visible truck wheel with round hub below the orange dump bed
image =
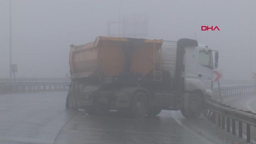
<path fill-rule="evenodd" d="M 137 92 L 132 100 L 130 113 L 133 118 L 142 118 L 148 110 L 147 95 L 144 92 Z"/>

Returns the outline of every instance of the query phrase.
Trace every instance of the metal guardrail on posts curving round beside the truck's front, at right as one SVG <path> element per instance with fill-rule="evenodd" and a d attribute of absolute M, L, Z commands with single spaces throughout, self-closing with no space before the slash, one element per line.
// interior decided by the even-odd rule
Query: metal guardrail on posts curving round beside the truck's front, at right
<path fill-rule="evenodd" d="M 251 111 L 237 110 L 231 106 L 222 104 L 220 100 L 229 96 L 242 96 L 245 94 L 255 94 L 256 85 L 233 86 L 214 89 L 214 99 L 205 102 L 209 111 L 205 114 L 207 118 L 212 120 L 216 125 L 227 129 L 230 132 L 230 124 L 232 125 L 232 134 L 236 135 L 236 122 L 238 122 L 238 136 L 242 138 L 242 123 L 246 124 L 246 141 L 251 142 L 250 126 L 256 127 L 256 113 Z M 219 100 L 219 101 L 218 101 Z M 230 122 L 232 120 L 232 122 Z"/>

